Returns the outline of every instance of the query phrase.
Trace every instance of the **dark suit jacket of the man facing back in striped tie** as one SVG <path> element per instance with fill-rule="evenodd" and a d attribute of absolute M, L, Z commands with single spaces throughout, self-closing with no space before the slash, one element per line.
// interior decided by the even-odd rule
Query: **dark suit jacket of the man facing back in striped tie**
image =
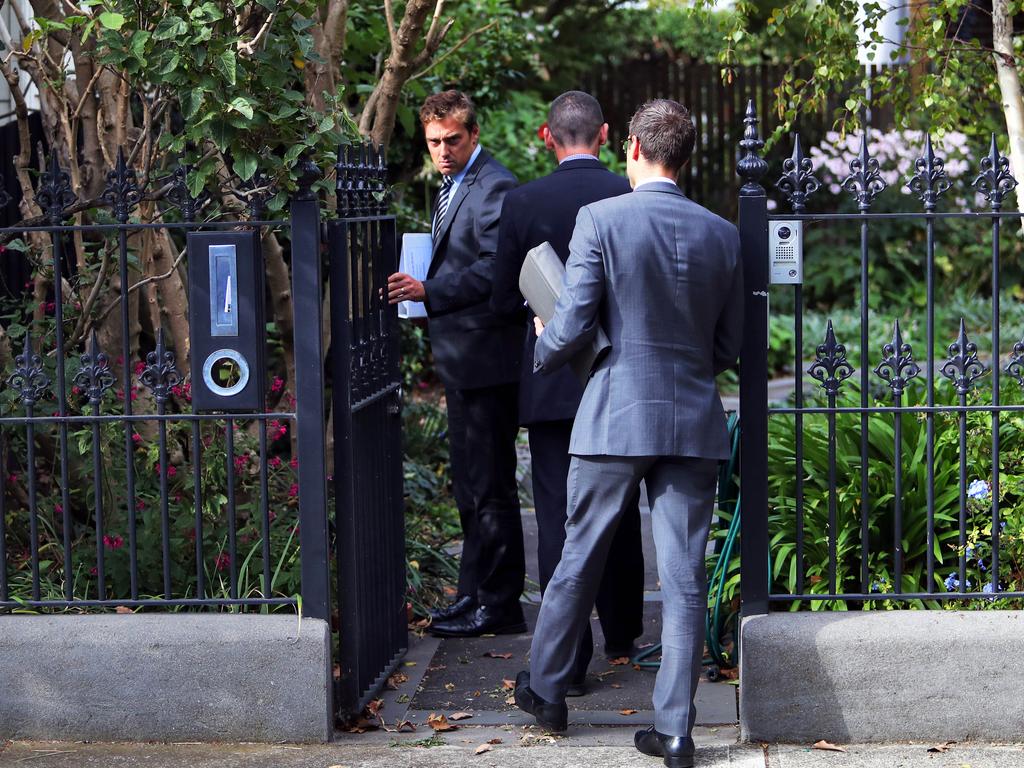
<path fill-rule="evenodd" d="M 441 382 L 456 389 L 511 384 L 522 366 L 522 325 L 487 303 L 498 248 L 498 217 L 516 178 L 481 150 L 434 241 L 427 280 L 430 347 Z"/>

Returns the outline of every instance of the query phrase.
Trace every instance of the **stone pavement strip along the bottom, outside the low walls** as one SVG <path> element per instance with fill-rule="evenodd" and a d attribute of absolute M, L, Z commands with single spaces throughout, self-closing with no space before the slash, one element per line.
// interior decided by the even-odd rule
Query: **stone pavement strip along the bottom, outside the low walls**
<path fill-rule="evenodd" d="M 442 735 L 367 733 L 333 744 L 0 742 L 0 768 L 659 768 L 631 745 L 630 728 L 463 726 Z M 1024 768 L 1024 744 L 737 744 L 732 728 L 697 728 L 697 768 Z M 489 750 L 478 752 L 482 746 Z"/>

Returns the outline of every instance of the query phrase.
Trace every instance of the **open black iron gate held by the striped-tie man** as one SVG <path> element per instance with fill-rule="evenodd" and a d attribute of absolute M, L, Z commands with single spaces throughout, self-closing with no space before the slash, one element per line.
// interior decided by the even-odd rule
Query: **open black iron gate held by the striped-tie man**
<path fill-rule="evenodd" d="M 383 686 L 408 640 L 398 325 L 386 289 L 398 264 L 383 147 L 347 147 L 337 170 L 341 218 L 327 227 L 341 635 L 336 700 L 354 713 Z"/>

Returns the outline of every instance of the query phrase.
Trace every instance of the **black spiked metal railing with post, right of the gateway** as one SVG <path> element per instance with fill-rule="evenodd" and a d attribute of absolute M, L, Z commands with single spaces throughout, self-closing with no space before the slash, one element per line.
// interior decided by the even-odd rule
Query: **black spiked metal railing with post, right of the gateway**
<path fill-rule="evenodd" d="M 1024 341 L 1012 350 L 1001 348 L 999 293 L 1006 287 L 1000 285 L 1000 228 L 1005 219 L 1020 220 L 1021 213 L 1002 210 L 1017 182 L 995 137 L 973 182 L 985 210 L 937 211 L 951 182 L 927 137 L 912 175 L 904 179 L 921 209 L 872 212 L 886 183 L 865 138 L 842 182 L 856 213 L 808 213 L 807 199 L 821 184 L 797 137 L 776 184 L 792 213 L 769 214 L 760 183 L 768 166 L 760 157 L 763 142 L 753 101 L 743 122 L 737 163 L 744 182 L 739 229 L 746 290 L 740 358 L 743 613 L 767 612 L 772 602 L 919 601 L 927 606 L 933 600 L 1024 597 L 1019 585 L 1014 589 L 1014 579 L 1000 575 L 1002 513 L 1019 501 L 1016 487 L 1000 488 L 1000 462 L 1012 458 L 1000 444 L 1000 432 L 1007 419 L 1024 411 L 1020 392 L 1008 399 L 1000 384 L 1002 374 L 1009 374 L 1024 388 Z M 859 310 L 859 343 L 849 353 L 847 340 L 829 318 L 808 357 L 804 288 L 775 288 L 772 296 L 793 304 L 794 355 L 793 395 L 774 406 L 767 389 L 767 305 L 773 290 L 768 234 L 770 222 L 783 220 L 858 227 L 859 280 L 850 289 Z M 872 227 L 894 220 L 916 222 L 924 230 L 920 274 L 926 345 L 918 358 L 900 325 L 906 307 L 872 302 Z M 936 306 L 945 297 L 936 278 L 936 224 L 967 226 L 972 221 L 990 226 L 987 364 L 964 317 L 950 343 L 937 346 Z M 831 257 L 805 257 L 805 274 L 812 264 L 815 269 L 837 268 Z M 869 331 L 881 324 L 891 330 L 891 339 L 872 348 Z M 991 385 L 981 387 L 986 376 Z M 942 385 L 944 380 L 948 385 Z M 986 430 L 986 450 L 971 454 L 969 434 Z M 985 479 L 970 481 L 972 471 Z M 978 505 L 987 510 L 982 512 L 984 524 L 977 519 Z M 784 573 L 783 562 L 788 564 Z"/>

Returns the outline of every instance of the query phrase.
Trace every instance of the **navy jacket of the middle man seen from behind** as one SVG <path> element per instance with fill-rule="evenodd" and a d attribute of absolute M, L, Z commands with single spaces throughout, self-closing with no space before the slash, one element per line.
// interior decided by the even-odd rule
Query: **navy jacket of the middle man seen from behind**
<path fill-rule="evenodd" d="M 628 191 L 630 182 L 625 178 L 597 160 L 582 159 L 562 163 L 547 176 L 505 196 L 490 308 L 503 316 L 520 317 L 526 328 L 519 388 L 521 424 L 572 419 L 583 396 L 583 385 L 567 368 L 550 376 L 534 373 L 534 314 L 523 308 L 519 293 L 519 270 L 526 251 L 547 241 L 564 263 L 580 209 Z"/>

